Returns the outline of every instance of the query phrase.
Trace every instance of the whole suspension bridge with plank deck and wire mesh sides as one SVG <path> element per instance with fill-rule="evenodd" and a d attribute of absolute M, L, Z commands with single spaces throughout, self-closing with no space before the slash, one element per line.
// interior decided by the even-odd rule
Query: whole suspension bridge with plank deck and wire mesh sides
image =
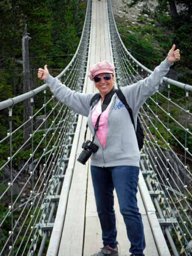
<path fill-rule="evenodd" d="M 103 60 L 116 67 L 116 88 L 128 86 L 152 72 L 125 48 L 111 1 L 88 0 L 78 49 L 57 78 L 62 78 L 72 90 L 95 93 L 87 74 L 92 64 Z M 168 77 L 163 81 L 166 93 L 160 86 L 139 114 L 145 133 L 137 193 L 146 239 L 144 253 L 187 256 L 192 254 L 192 152 L 188 145 L 192 136 L 192 113 L 188 110 L 192 86 Z M 183 90 L 185 96 L 171 99 L 173 87 Z M 35 95 L 42 92 L 42 108 L 34 112 Z M 90 163 L 83 166 L 76 161 L 82 151 L 87 118 L 62 105 L 55 96 L 49 98 L 46 92 L 44 84 L 0 102 L 0 109 L 9 108 L 10 122 L 9 133 L 0 141 L 0 148 L 6 145 L 10 151 L 0 166 L 0 172 L 10 173 L 0 194 L 1 202 L 9 201 L 6 212 L 0 216 L 0 230 L 9 227 L 6 236 L 1 237 L 0 256 L 90 256 L 102 247 Z M 15 105 L 28 98 L 31 134 L 14 150 L 12 143 L 24 126 L 12 129 Z M 88 138 L 91 139 L 89 132 Z M 181 150 L 176 151 L 173 145 Z M 15 172 L 14 161 L 26 147 L 30 147 L 29 158 Z M 115 212 L 119 255 L 128 256 L 130 243 L 116 196 Z"/>

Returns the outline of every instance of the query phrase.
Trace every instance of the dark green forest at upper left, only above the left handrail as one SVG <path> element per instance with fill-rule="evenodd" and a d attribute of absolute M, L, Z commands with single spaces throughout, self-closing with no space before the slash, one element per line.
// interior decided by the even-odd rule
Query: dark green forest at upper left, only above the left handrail
<path fill-rule="evenodd" d="M 86 3 L 76 0 L 0 1 L 0 70 L 13 96 L 23 93 L 22 37 L 29 33 L 31 87 L 41 83 L 37 70 L 48 64 L 57 73 L 70 62 L 79 44 Z M 72 54 L 72 55 L 70 55 Z M 18 61 L 17 61 L 18 60 Z"/>

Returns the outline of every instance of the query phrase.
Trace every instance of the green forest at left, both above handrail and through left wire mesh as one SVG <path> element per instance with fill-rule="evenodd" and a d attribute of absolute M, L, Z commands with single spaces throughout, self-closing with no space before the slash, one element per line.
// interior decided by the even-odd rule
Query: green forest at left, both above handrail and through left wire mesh
<path fill-rule="evenodd" d="M 31 38 L 29 39 L 30 82 L 31 88 L 34 89 L 42 85 L 42 81 L 39 81 L 37 78 L 39 67 L 44 67 L 45 64 L 48 64 L 49 72 L 55 76 L 73 58 L 83 29 L 86 5 L 87 1 L 85 0 L 45 0 L 43 2 L 38 0 L 0 1 L 0 102 L 23 93 L 23 65 L 19 61 L 22 61 L 22 37 L 25 25 L 27 24 L 27 33 L 29 33 L 29 37 Z M 47 99 L 50 99 L 50 95 L 51 93 L 47 90 Z M 34 101 L 35 114 L 44 103 L 44 93 L 41 92 L 35 95 Z M 53 101 L 47 106 L 47 115 L 52 111 L 52 107 Z M 14 105 L 12 111 L 12 128 L 15 130 L 23 124 L 23 102 Z M 39 112 L 38 115 L 44 115 L 44 110 Z M 57 122 L 58 119 L 56 120 Z M 47 125 L 50 126 L 51 124 L 52 121 L 48 119 Z M 36 148 L 39 144 L 39 147 L 34 153 L 35 159 L 42 156 L 43 149 L 45 148 L 45 139 L 42 140 L 44 137 L 43 134 L 45 133 L 44 125 L 41 125 L 40 129 L 41 131 L 36 132 L 33 137 L 34 147 Z M 9 132 L 9 110 L 6 108 L 0 111 L 0 140 L 5 138 Z M 57 136 L 58 134 L 55 133 L 55 140 Z M 50 142 L 49 145 L 46 145 L 49 151 L 53 145 L 51 131 L 47 134 L 46 139 Z M 23 130 L 19 129 L 12 135 L 12 151 L 16 152 L 22 145 Z M 30 146 L 29 148 L 22 148 L 15 155 L 12 161 L 12 167 L 18 170 L 20 161 L 29 159 L 31 153 Z M 0 168 L 6 163 L 9 156 L 10 138 L 4 140 L 0 145 Z M 42 161 L 44 161 L 44 157 L 42 157 Z M 1 184 L 0 193 L 2 194 L 5 189 L 6 187 Z M 14 197 L 17 197 L 17 195 Z M 10 200 L 10 197 L 4 196 L 0 201 L 0 223 L 9 210 Z M 19 200 L 20 198 L 17 199 L 17 201 Z M 29 212 L 26 208 L 20 221 L 24 221 L 27 214 L 30 216 L 32 212 Z M 17 220 L 19 215 L 19 210 L 16 210 L 13 219 Z M 35 218 L 36 215 L 35 213 Z M 31 218 L 27 218 L 21 230 L 19 239 L 15 244 L 14 254 L 20 246 L 29 221 L 31 221 Z M 8 216 L 0 229 L 0 251 L 6 243 L 10 230 L 11 216 Z M 29 229 L 30 231 L 31 229 Z M 14 231 L 14 239 L 18 232 L 19 230 Z M 29 232 L 26 234 L 20 251 L 22 251 L 29 239 Z M 37 250 L 40 244 L 41 238 L 38 241 Z M 48 244 L 49 239 L 46 241 L 46 247 Z M 9 251 L 9 244 L 7 246 L 7 251 Z M 29 248 L 29 244 L 27 248 Z M 4 251 L 5 255 L 7 251 Z"/>

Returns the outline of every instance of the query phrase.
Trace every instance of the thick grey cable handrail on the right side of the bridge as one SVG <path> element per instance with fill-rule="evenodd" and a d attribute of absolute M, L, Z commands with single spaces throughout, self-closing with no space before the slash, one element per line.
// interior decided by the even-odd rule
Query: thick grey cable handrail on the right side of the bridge
<path fill-rule="evenodd" d="M 113 15 L 113 12 L 112 12 L 112 15 Z M 113 15 L 113 20 L 115 20 L 114 18 L 114 15 Z M 116 27 L 116 22 L 114 22 L 114 26 L 116 28 L 116 32 L 117 32 L 117 35 L 119 37 L 119 40 L 123 46 L 123 48 L 125 49 L 125 52 L 132 58 L 132 60 L 138 65 L 140 66 L 143 70 L 145 70 L 147 73 L 151 74 L 153 71 L 151 71 L 150 69 L 148 69 L 147 67 L 145 67 L 143 64 L 141 64 L 139 61 L 136 60 L 136 58 L 134 58 L 133 55 L 131 55 L 131 53 L 128 51 L 128 49 L 125 47 L 125 45 L 123 44 L 123 41 L 119 35 L 119 32 L 118 32 L 118 29 Z M 167 77 L 163 77 L 163 81 L 166 81 L 167 83 L 169 84 L 173 84 L 177 87 L 180 87 L 180 88 L 183 88 L 184 90 L 186 91 L 192 91 L 192 85 L 189 85 L 189 84 L 183 84 L 181 82 L 178 82 L 178 81 L 175 81 L 173 79 L 170 79 L 170 78 L 167 78 Z"/>

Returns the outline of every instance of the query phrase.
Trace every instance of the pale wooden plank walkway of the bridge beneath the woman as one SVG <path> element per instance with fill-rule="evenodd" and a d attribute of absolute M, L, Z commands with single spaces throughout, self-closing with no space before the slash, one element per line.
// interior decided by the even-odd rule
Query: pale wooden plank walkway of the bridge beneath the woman
<path fill-rule="evenodd" d="M 93 81 L 87 79 L 89 67 L 92 64 L 107 60 L 113 63 L 111 48 L 111 38 L 108 24 L 108 13 L 106 0 L 92 1 L 92 21 L 90 32 L 90 46 L 87 60 L 87 72 L 84 83 L 84 92 L 97 92 Z M 72 146 L 69 165 L 66 171 L 66 177 L 61 190 L 60 201 L 58 205 L 57 216 L 52 231 L 52 236 L 47 250 L 47 256 L 90 256 L 99 251 L 102 247 L 102 232 L 99 218 L 96 212 L 95 198 L 90 175 L 90 163 L 85 166 L 76 161 L 82 151 L 81 145 L 84 141 L 84 131 L 87 118 L 79 116 L 76 129 L 76 135 Z M 87 138 L 90 138 L 90 132 L 87 132 Z M 72 177 L 73 175 L 73 177 Z M 72 180 L 72 181 L 71 181 Z M 71 183 L 70 183 L 71 182 Z M 140 189 L 145 187 L 145 181 L 140 179 Z M 145 191 L 146 192 L 146 191 Z M 148 221 L 149 213 L 154 213 L 152 201 L 145 203 L 144 207 L 142 197 L 145 196 L 141 190 L 137 194 L 138 206 L 143 219 L 146 248 L 145 256 L 170 256 L 167 248 L 161 251 L 156 247 L 158 241 L 154 241 L 153 233 L 161 233 L 158 236 L 160 243 L 164 239 L 157 219 L 155 231 L 150 227 Z M 150 208 L 151 207 L 151 208 Z M 115 196 L 115 212 L 117 224 L 117 241 L 119 242 L 119 255 L 128 256 L 130 242 L 128 241 L 125 224 L 122 215 L 119 212 L 117 197 Z M 156 215 L 155 215 L 156 216 Z M 154 215 L 153 215 L 154 217 Z M 163 246 L 165 241 L 163 241 Z"/>

